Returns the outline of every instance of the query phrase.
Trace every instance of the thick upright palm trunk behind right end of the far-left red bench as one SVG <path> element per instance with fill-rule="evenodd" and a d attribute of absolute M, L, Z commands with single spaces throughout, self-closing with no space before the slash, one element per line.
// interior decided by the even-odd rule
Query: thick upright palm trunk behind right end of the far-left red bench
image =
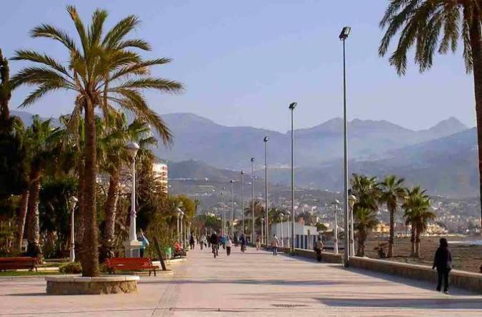
<path fill-rule="evenodd" d="M 40 219 L 39 219 L 40 171 L 32 168 L 30 172 L 29 209 L 27 211 L 27 254 L 41 256 Z"/>

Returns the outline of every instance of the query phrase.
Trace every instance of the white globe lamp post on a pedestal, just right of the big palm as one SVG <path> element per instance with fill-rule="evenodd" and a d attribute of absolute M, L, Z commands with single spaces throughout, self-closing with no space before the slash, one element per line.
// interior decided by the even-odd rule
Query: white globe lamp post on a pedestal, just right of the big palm
<path fill-rule="evenodd" d="M 141 241 L 137 241 L 136 235 L 136 154 L 139 150 L 139 145 L 136 142 L 129 142 L 127 144 L 127 151 L 132 160 L 132 190 L 131 190 L 131 213 L 129 224 L 129 241 L 124 242 L 126 250 L 126 257 L 134 258 L 140 255 Z"/>

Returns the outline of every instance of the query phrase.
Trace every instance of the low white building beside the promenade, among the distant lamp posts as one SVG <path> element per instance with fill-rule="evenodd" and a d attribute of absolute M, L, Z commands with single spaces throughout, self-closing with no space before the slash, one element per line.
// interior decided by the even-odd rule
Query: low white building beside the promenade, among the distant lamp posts
<path fill-rule="evenodd" d="M 273 237 L 273 234 L 276 234 L 276 237 L 280 239 L 281 246 L 291 246 L 291 237 L 293 237 L 291 229 L 292 222 L 283 222 L 283 223 L 276 223 L 271 224 L 270 234 Z M 313 245 L 318 239 L 318 230 L 316 227 L 313 226 L 305 226 L 298 222 L 295 222 L 295 248 L 299 249 L 313 249 Z M 271 241 L 271 237 L 270 240 Z M 282 239 L 281 239 L 282 238 Z M 289 244 L 288 244 L 289 240 Z"/>

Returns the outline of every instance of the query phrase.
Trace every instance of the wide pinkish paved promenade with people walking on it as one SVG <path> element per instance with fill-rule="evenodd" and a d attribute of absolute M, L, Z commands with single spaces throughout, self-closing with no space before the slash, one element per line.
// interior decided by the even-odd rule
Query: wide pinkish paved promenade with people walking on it
<path fill-rule="evenodd" d="M 46 296 L 42 279 L 0 279 L 0 316 L 482 316 L 482 296 L 248 249 L 189 252 L 137 294 Z"/>

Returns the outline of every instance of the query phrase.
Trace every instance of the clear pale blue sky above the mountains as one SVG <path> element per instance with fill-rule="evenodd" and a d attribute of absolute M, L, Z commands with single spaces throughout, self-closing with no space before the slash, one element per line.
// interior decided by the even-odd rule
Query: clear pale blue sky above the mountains
<path fill-rule="evenodd" d="M 378 22 L 386 0 L 143 0 L 2 1 L 0 48 L 35 49 L 67 61 L 59 44 L 30 38 L 42 23 L 74 34 L 66 14 L 74 4 L 84 21 L 94 9 L 109 11 L 107 26 L 129 14 L 139 16 L 134 36 L 151 43 L 146 58 L 173 61 L 156 76 L 179 80 L 181 95 L 146 93 L 151 108 L 164 113 L 196 113 L 229 126 L 247 125 L 286 132 L 289 103 L 296 101 L 296 128 L 309 128 L 343 115 L 342 46 L 338 34 L 351 26 L 346 42 L 348 119 L 388 120 L 413 130 L 448 117 L 476 123 L 473 78 L 465 73 L 462 46 L 437 56 L 423 74 L 411 63 L 399 77 L 380 58 L 383 30 Z M 393 46 L 392 46 L 393 48 Z M 413 55 L 411 55 L 413 56 Z M 11 71 L 25 63 L 11 62 Z M 16 90 L 16 108 L 30 88 Z M 74 96 L 55 92 L 26 109 L 46 117 L 69 113 Z"/>

